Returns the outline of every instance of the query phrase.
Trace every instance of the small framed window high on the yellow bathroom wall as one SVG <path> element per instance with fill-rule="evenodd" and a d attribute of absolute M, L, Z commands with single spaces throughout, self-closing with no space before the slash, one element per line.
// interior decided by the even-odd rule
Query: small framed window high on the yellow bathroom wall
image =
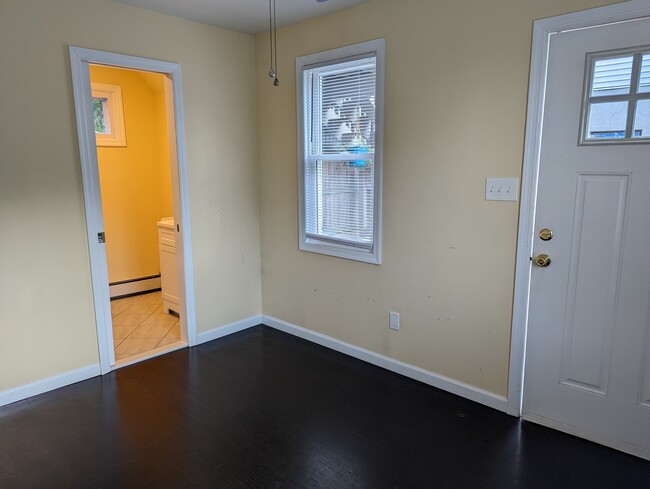
<path fill-rule="evenodd" d="M 106 83 L 91 83 L 91 88 L 97 146 L 126 146 L 122 88 Z"/>

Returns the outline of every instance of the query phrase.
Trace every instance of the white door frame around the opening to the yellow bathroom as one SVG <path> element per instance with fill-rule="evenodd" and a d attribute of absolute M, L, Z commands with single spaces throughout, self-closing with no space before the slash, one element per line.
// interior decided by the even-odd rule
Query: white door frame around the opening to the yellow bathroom
<path fill-rule="evenodd" d="M 176 220 L 180 225 L 183 264 L 182 269 L 179 268 L 179 271 L 182 270 L 183 280 L 181 281 L 181 285 L 184 283 L 185 321 L 187 324 L 186 339 L 189 346 L 197 344 L 197 335 L 181 67 L 179 64 L 166 61 L 70 46 L 72 86 L 76 109 L 77 133 L 79 137 L 84 204 L 86 207 L 86 225 L 88 228 L 90 270 L 92 275 L 93 298 L 95 301 L 99 361 L 103 375 L 114 368 L 114 365 L 112 365 L 114 363 L 114 354 L 111 348 L 113 344 L 112 337 L 109 337 L 109 335 L 112 335 L 110 331 L 112 319 L 108 288 L 108 267 L 106 265 L 106 248 L 105 245 L 100 245 L 97 239 L 98 233 L 104 231 L 104 218 L 102 215 L 97 147 L 92 118 L 92 92 L 88 66 L 91 63 L 163 73 L 168 75 L 172 80 L 174 120 L 176 126 L 176 159 L 178 161 L 178 187 L 180 196 L 180 216 L 176 216 Z M 183 294 L 182 287 L 180 293 Z M 183 334 L 183 331 L 181 334 Z"/>

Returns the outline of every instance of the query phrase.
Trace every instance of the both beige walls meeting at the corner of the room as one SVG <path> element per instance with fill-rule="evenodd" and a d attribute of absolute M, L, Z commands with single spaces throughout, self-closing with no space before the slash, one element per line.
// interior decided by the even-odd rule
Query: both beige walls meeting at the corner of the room
<path fill-rule="evenodd" d="M 265 34 L 110 0 L 0 0 L 0 391 L 98 361 L 77 45 L 182 66 L 199 332 L 259 314 L 263 292 L 265 314 L 505 394 L 517 205 L 485 202 L 484 179 L 521 172 L 533 19 L 605 3 L 375 0 L 282 29 L 275 89 Z M 297 249 L 294 63 L 378 37 L 384 262 L 373 266 Z"/>

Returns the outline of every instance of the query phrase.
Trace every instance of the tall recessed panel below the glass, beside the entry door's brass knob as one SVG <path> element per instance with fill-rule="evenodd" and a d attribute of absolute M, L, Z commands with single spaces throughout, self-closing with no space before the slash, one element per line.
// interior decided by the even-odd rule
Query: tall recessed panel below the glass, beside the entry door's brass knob
<path fill-rule="evenodd" d="M 561 382 L 599 394 L 610 374 L 628 182 L 578 174 Z"/>

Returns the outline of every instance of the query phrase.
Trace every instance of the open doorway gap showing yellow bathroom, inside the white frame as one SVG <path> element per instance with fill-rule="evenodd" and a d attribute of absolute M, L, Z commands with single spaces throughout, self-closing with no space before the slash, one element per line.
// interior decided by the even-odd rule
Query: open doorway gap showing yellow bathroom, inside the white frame
<path fill-rule="evenodd" d="M 117 366 L 183 347 L 165 75 L 91 64 Z M 169 120 L 171 117 L 171 120 Z"/>

